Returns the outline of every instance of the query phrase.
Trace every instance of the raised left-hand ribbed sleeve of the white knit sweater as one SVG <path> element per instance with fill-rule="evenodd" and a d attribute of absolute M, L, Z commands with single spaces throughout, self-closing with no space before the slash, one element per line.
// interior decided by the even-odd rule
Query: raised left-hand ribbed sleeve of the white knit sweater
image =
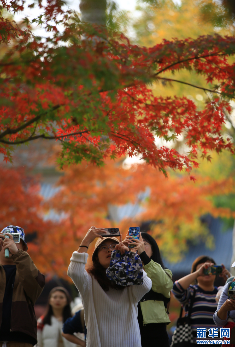
<path fill-rule="evenodd" d="M 83 296 L 88 294 L 91 285 L 91 276 L 85 270 L 87 253 L 74 252 L 68 266 L 68 276 L 72 278 L 79 293 Z"/>

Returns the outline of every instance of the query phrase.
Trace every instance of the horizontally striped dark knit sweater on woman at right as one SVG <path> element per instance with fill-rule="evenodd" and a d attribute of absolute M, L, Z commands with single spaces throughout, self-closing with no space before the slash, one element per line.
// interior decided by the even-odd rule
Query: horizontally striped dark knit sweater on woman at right
<path fill-rule="evenodd" d="M 210 339 L 208 337 L 208 329 L 217 328 L 213 320 L 213 315 L 217 309 L 215 296 L 218 289 L 215 287 L 213 291 L 205 291 L 198 285 L 190 285 L 187 289 L 184 289 L 178 281 L 175 281 L 172 288 L 172 293 L 176 299 L 184 305 L 185 316 L 188 315 L 190 297 L 194 293 L 194 289 L 196 289 L 196 294 L 194 303 L 192 305 L 191 327 L 194 335 L 194 341 L 196 343 L 197 328 L 207 328 L 206 339 Z M 218 339 L 220 339 L 220 332 L 218 335 Z"/>

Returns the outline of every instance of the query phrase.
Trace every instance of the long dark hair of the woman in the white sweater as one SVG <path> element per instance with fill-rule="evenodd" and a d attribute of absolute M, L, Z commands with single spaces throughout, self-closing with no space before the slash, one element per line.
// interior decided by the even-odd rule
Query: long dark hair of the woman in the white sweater
<path fill-rule="evenodd" d="M 108 291 L 109 288 L 123 290 L 123 286 L 119 286 L 114 281 L 111 281 L 109 278 L 107 278 L 106 269 L 103 268 L 103 266 L 98 261 L 98 248 L 96 248 L 92 257 L 94 261 L 91 265 L 88 265 L 86 271 L 98 281 L 101 288 L 104 291 Z"/>

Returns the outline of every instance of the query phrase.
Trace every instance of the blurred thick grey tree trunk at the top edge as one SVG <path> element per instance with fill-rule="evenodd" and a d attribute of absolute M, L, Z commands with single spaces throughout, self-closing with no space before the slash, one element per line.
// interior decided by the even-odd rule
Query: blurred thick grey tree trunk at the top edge
<path fill-rule="evenodd" d="M 81 0 L 79 8 L 82 12 L 82 22 L 105 25 L 106 7 L 106 0 Z"/>

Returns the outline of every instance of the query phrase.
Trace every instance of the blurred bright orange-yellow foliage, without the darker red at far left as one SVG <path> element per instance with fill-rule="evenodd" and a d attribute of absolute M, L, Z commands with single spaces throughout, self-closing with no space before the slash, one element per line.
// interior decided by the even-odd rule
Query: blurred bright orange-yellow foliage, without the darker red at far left
<path fill-rule="evenodd" d="M 178 261 L 187 251 L 187 242 L 202 239 L 213 247 L 213 236 L 199 217 L 211 213 L 215 217 L 235 216 L 229 209 L 215 208 L 212 197 L 235 191 L 234 180 L 211 180 L 188 176 L 165 178 L 161 172 L 146 164 L 126 170 L 123 160 L 107 160 L 102 168 L 83 163 L 65 168 L 58 181 L 61 190 L 47 203 L 47 208 L 66 213 L 56 230 L 46 235 L 51 247 L 43 249 L 48 258 L 47 271 L 64 277 L 72 252 L 77 250 L 87 230 L 92 226 L 120 228 L 123 237 L 128 228 L 152 221 L 151 234 L 169 260 Z M 139 194 L 149 189 L 141 202 L 143 212 L 119 223 L 109 216 L 113 205 L 139 202 Z M 95 243 L 95 241 L 94 241 Z M 91 255 L 94 243 L 89 247 Z M 39 255 L 38 255 L 39 256 Z"/>

